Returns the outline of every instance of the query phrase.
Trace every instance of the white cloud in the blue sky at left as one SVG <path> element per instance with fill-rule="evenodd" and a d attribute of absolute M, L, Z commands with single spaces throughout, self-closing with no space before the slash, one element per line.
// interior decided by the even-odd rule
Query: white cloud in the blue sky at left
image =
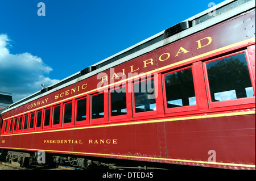
<path fill-rule="evenodd" d="M 23 99 L 46 86 L 56 83 L 57 79 L 47 77 L 52 68 L 31 53 L 11 54 L 10 39 L 0 34 L 0 91 L 12 92 L 13 100 Z"/>

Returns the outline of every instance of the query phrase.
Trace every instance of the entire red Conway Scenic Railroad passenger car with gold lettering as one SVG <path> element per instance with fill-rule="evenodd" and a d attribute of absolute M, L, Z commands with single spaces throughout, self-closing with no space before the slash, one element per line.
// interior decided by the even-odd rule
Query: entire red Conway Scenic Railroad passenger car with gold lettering
<path fill-rule="evenodd" d="M 0 131 L 0 156 L 20 165 L 43 150 L 84 168 L 255 169 L 255 1 L 222 2 L 12 104 Z"/>

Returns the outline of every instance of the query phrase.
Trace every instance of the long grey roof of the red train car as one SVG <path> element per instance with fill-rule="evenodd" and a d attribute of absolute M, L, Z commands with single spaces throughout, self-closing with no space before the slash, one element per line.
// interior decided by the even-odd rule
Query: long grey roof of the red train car
<path fill-rule="evenodd" d="M 167 30 L 159 32 L 156 35 L 133 45 L 132 47 L 122 50 L 111 57 L 97 62 L 84 70 L 81 70 L 51 86 L 48 86 L 30 96 L 27 96 L 24 99 L 19 100 L 18 102 L 11 104 L 9 109 L 3 112 L 13 110 L 14 108 L 22 106 L 23 104 L 31 102 L 32 100 L 38 99 L 56 90 L 63 89 L 68 85 L 72 85 L 73 83 L 96 75 L 101 71 L 108 70 L 113 66 L 132 60 L 138 56 L 142 56 L 143 54 L 151 52 L 154 49 L 183 39 L 184 37 L 192 35 L 193 33 L 204 30 L 205 28 L 211 27 L 214 24 L 223 22 L 226 19 L 230 19 L 233 16 L 254 8 L 255 0 L 226 0 L 221 2 L 220 4 L 200 12 L 199 14 L 192 16 L 191 18 L 172 26 Z M 214 15 L 212 11 L 214 11 Z"/>

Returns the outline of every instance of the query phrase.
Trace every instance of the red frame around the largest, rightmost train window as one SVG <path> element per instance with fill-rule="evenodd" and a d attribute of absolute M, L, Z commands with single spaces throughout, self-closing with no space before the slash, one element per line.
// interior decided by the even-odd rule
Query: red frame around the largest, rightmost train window
<path fill-rule="evenodd" d="M 251 86 L 253 87 L 253 91 L 254 91 L 254 96 L 249 97 L 249 98 L 238 98 L 238 99 L 232 99 L 232 100 L 222 100 L 220 102 L 212 102 L 212 96 L 210 94 L 210 85 L 209 85 L 208 72 L 207 72 L 207 63 L 217 61 L 217 60 L 221 60 L 221 59 L 224 59 L 224 58 L 227 58 L 227 57 L 232 57 L 232 56 L 235 56 L 235 55 L 241 54 L 241 53 L 245 53 L 246 62 L 247 62 L 249 75 L 250 75 Z M 229 53 L 225 56 L 220 56 L 218 58 L 213 58 L 212 60 L 208 60 L 208 61 L 203 62 L 205 85 L 206 85 L 206 88 L 207 88 L 209 108 L 227 107 L 227 106 L 241 106 L 243 104 L 255 103 L 255 88 L 254 88 L 255 86 L 253 85 L 254 84 L 253 75 L 250 71 L 250 66 L 251 66 L 250 58 L 249 58 L 249 55 L 248 55 L 248 52 L 247 52 L 246 49 L 235 52 L 235 53 Z"/>

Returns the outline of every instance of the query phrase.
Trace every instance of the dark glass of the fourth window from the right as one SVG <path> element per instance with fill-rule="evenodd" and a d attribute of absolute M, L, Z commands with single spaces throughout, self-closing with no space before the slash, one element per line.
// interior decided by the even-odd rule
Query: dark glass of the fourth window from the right
<path fill-rule="evenodd" d="M 126 115 L 126 91 L 124 89 L 113 89 L 110 91 L 111 116 Z"/>

